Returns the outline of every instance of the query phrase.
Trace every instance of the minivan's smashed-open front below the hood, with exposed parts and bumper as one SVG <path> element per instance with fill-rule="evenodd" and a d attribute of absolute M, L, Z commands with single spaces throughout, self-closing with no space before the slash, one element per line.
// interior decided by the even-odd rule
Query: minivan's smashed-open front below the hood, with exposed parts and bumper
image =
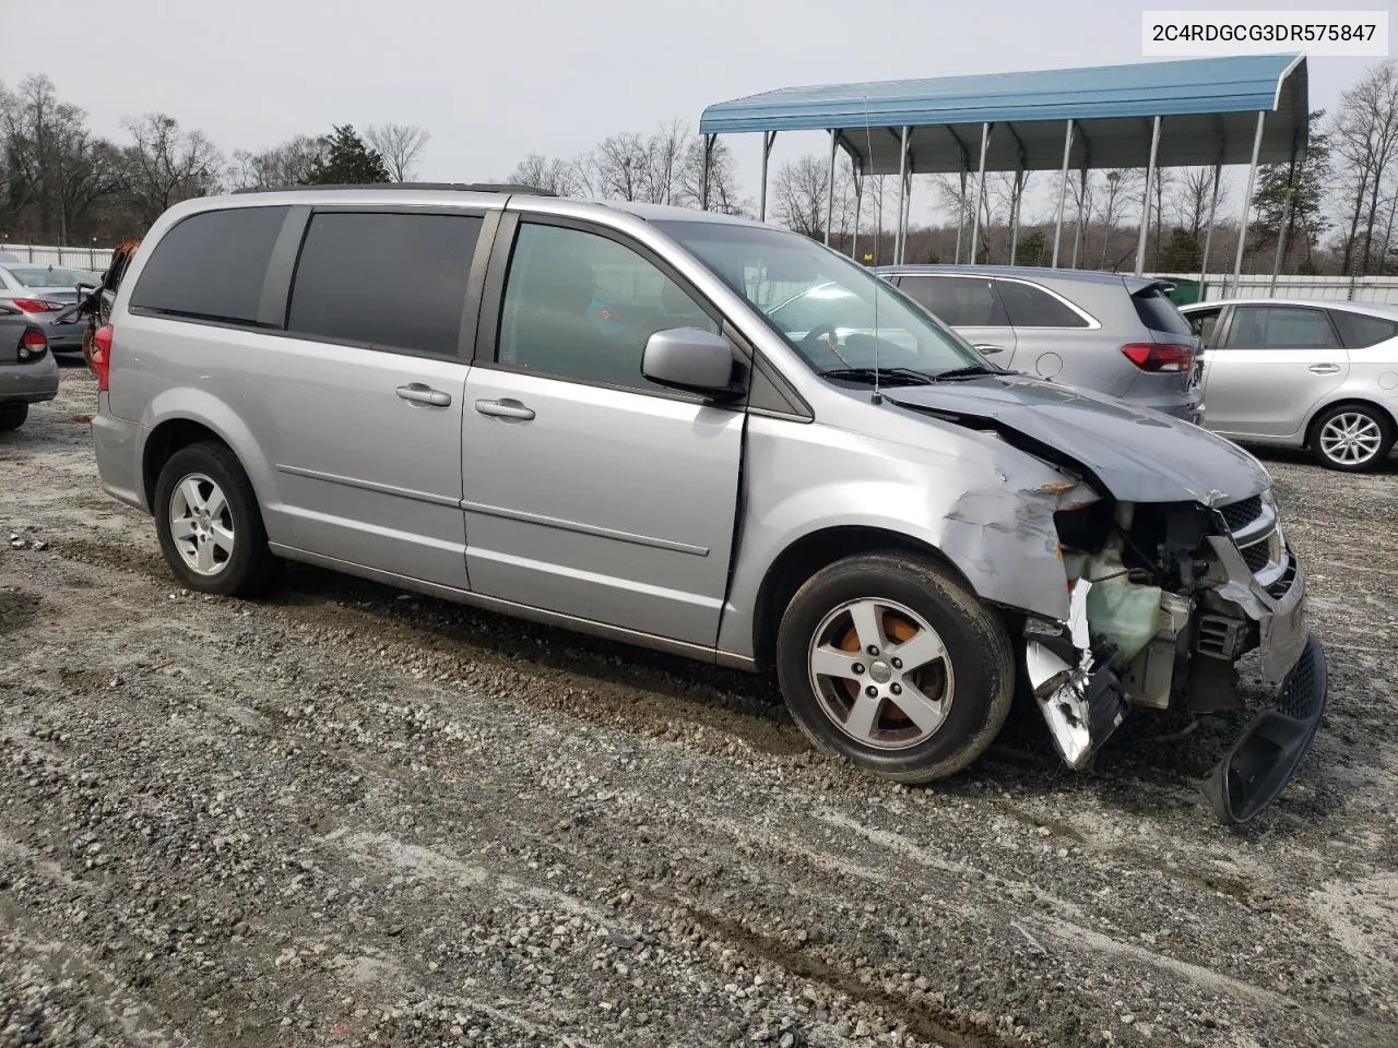
<path fill-rule="evenodd" d="M 1232 503 L 1102 497 L 1060 510 L 1067 622 L 1030 618 L 1025 658 L 1054 743 L 1083 769 L 1132 706 L 1241 710 L 1237 661 L 1276 687 L 1204 783 L 1243 824 L 1296 774 L 1320 727 L 1325 658 L 1271 489 Z"/>

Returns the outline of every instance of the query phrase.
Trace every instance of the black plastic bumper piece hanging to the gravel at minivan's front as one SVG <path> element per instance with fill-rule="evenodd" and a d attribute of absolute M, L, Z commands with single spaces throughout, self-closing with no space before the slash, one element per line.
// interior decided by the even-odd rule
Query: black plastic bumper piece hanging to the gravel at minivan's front
<path fill-rule="evenodd" d="M 1253 718 L 1201 785 L 1219 822 L 1246 826 L 1296 777 L 1320 729 L 1328 686 L 1325 653 L 1307 636 L 1276 706 Z"/>

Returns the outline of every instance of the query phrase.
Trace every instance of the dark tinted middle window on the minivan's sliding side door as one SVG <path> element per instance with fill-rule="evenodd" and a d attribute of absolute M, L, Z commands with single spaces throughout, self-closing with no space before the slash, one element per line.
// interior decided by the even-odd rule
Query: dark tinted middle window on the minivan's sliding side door
<path fill-rule="evenodd" d="M 480 233 L 474 215 L 312 215 L 287 328 L 454 356 Z"/>

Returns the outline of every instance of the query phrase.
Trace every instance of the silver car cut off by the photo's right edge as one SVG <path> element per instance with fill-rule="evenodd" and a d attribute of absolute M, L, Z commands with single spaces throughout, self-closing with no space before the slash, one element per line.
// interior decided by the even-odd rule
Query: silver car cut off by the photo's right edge
<path fill-rule="evenodd" d="M 1236 299 L 1186 306 L 1204 342 L 1205 425 L 1234 440 L 1309 447 L 1350 472 L 1398 433 L 1398 306 Z"/>

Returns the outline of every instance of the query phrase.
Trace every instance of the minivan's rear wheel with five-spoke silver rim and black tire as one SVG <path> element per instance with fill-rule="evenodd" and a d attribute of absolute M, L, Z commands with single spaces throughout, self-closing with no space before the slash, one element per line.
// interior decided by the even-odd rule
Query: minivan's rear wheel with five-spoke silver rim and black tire
<path fill-rule="evenodd" d="M 224 444 L 182 447 L 155 485 L 161 552 L 190 590 L 254 597 L 275 580 L 280 562 L 267 548 L 257 496 Z"/>

